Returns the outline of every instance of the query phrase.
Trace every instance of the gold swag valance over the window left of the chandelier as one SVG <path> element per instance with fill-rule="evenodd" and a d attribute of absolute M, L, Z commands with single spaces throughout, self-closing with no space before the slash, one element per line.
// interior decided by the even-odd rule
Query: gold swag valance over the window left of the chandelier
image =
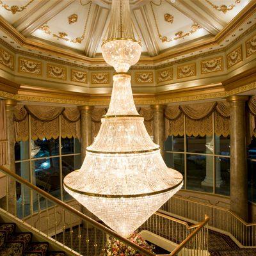
<path fill-rule="evenodd" d="M 29 138 L 28 115 L 31 115 L 32 140 L 56 139 L 60 134 L 62 138 L 80 138 L 80 113 L 77 108 L 24 105 L 17 106 L 14 112 L 16 141 Z"/>

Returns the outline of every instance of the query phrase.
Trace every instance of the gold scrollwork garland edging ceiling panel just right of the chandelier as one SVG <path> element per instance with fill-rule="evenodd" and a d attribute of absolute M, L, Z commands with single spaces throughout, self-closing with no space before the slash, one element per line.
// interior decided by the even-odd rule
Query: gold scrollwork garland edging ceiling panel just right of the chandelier
<path fill-rule="evenodd" d="M 157 20 L 156 20 L 156 14 L 154 12 L 154 8 L 153 8 L 153 5 L 155 6 L 160 6 L 162 4 L 162 0 L 160 0 L 160 3 L 159 4 L 156 4 L 154 3 L 153 1 L 150 1 L 150 6 L 151 6 L 151 10 L 152 10 L 152 13 L 153 13 L 153 16 L 154 16 L 154 20 L 155 20 L 155 24 L 156 24 L 156 29 L 157 29 L 157 33 L 158 33 L 158 37 L 159 39 L 162 41 L 162 43 L 165 43 L 165 42 L 172 42 L 173 40 L 178 40 L 178 39 L 182 39 L 184 38 L 185 36 L 189 36 L 193 33 L 195 33 L 198 29 L 201 29 L 202 27 L 200 25 L 198 25 L 197 23 L 194 23 L 192 26 L 191 26 L 191 30 L 188 31 L 188 32 L 184 32 L 184 31 L 177 31 L 171 38 L 168 38 L 167 36 L 163 36 L 160 31 L 159 31 L 159 26 L 157 24 Z M 165 19 L 165 15 L 170 15 L 168 13 L 164 14 L 164 19 Z M 172 16 L 172 15 L 171 15 Z"/>

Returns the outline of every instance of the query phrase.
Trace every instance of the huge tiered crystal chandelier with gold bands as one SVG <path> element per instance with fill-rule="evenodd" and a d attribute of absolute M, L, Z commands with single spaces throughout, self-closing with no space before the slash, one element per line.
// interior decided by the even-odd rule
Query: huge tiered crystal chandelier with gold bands
<path fill-rule="evenodd" d="M 129 0 L 112 1 L 104 60 L 112 65 L 113 90 L 108 113 L 80 168 L 64 179 L 65 190 L 106 225 L 129 236 L 183 184 L 166 166 L 134 105 L 131 76 L 125 72 L 141 54 L 132 31 Z"/>

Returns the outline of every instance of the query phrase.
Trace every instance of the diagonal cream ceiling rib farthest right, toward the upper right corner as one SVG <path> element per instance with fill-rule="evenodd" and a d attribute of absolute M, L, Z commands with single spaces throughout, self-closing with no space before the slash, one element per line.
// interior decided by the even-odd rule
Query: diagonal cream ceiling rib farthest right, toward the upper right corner
<path fill-rule="evenodd" d="M 194 22 L 202 26 L 202 28 L 204 28 L 209 33 L 211 33 L 211 35 L 215 36 L 221 31 L 221 29 L 223 29 L 223 25 L 212 24 L 213 22 L 210 22 L 209 19 L 207 19 L 204 15 L 202 15 L 202 11 L 196 10 L 195 8 L 193 8 L 193 6 L 190 6 L 187 1 L 176 0 L 175 3 L 172 3 L 170 1 L 166 1 L 166 2 L 172 5 L 174 8 L 179 10 L 181 13 L 183 13 L 187 17 L 189 17 L 189 19 L 193 20 Z"/>

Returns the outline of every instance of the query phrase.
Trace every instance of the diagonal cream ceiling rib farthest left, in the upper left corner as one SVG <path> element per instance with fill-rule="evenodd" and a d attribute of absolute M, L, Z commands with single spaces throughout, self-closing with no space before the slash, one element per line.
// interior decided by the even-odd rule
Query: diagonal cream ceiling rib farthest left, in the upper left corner
<path fill-rule="evenodd" d="M 17 27 L 17 30 L 22 33 L 24 36 L 31 35 L 36 29 L 40 28 L 44 23 L 46 23 L 48 20 L 50 20 L 52 17 L 60 13 L 62 10 L 67 8 L 70 4 L 72 4 L 76 0 L 55 0 L 51 1 L 51 5 L 44 10 L 44 12 L 36 12 L 35 17 L 33 17 L 33 20 L 29 22 L 29 24 L 26 24 L 26 28 L 20 30 L 20 27 L 23 28 L 23 26 Z M 26 22 L 26 20 L 24 21 Z"/>

